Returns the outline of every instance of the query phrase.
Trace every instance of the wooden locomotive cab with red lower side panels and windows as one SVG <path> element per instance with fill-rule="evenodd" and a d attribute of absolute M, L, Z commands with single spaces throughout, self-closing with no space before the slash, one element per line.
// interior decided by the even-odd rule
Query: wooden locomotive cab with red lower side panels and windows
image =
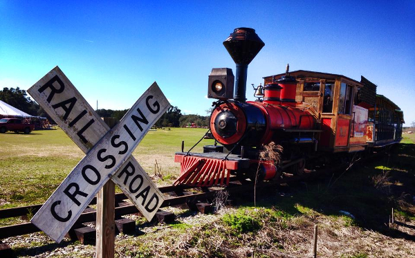
<path fill-rule="evenodd" d="M 274 82 L 284 74 L 264 77 Z M 365 85 L 344 75 L 314 71 L 293 71 L 297 80 L 296 102 L 308 106 L 320 122 L 318 150 L 329 152 L 363 151 L 367 147 L 367 104 L 358 98 Z"/>

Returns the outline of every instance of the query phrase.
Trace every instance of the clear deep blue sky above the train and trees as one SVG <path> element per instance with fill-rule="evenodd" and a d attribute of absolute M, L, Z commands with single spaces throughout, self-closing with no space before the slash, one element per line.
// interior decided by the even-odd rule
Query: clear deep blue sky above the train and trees
<path fill-rule="evenodd" d="M 28 89 L 59 66 L 100 109 L 127 109 L 154 81 L 182 113 L 206 115 L 208 75 L 235 64 L 222 45 L 255 28 L 262 77 L 310 70 L 378 85 L 415 121 L 415 1 L 0 0 L 0 89 Z"/>

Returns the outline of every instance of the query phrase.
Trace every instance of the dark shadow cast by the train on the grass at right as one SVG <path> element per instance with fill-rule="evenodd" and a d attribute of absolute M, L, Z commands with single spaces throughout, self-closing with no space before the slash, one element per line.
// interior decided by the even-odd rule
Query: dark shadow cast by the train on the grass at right
<path fill-rule="evenodd" d="M 341 216 L 342 210 L 353 214 L 356 217 L 354 224 L 360 228 L 415 241 L 414 235 L 389 228 L 392 208 L 414 216 L 415 171 L 412 164 L 415 164 L 415 145 L 400 144 L 389 153 L 353 165 L 344 174 L 343 170 L 333 176 L 291 184 L 288 192 L 275 197 L 269 192 L 257 194 L 257 206 L 302 214 L 297 208 L 301 205 L 329 216 Z M 253 194 L 246 197 L 253 199 Z"/>

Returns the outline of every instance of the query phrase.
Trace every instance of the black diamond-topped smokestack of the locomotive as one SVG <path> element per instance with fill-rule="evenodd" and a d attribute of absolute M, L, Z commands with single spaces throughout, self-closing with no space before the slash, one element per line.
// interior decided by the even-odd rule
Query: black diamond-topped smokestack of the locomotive
<path fill-rule="evenodd" d="M 248 64 L 265 44 L 253 28 L 235 28 L 228 39 L 225 39 L 223 46 L 237 64 L 234 100 L 245 102 Z"/>

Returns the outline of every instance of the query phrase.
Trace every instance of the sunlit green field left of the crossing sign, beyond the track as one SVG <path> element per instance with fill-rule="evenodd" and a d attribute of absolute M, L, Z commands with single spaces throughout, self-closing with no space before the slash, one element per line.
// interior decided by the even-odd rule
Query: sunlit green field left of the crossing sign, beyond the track
<path fill-rule="evenodd" d="M 62 130 L 0 134 L 0 208 L 46 201 L 84 156 Z"/>

